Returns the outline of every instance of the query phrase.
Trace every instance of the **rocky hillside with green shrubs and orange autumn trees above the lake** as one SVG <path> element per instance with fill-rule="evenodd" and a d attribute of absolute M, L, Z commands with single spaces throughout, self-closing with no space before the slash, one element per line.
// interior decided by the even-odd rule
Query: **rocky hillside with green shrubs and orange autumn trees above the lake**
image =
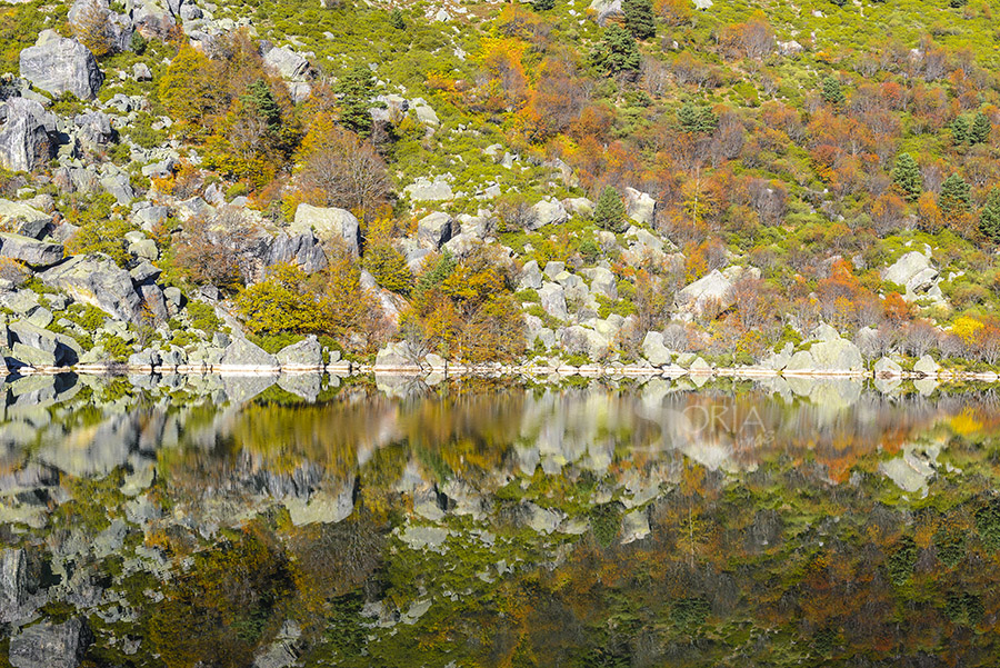
<path fill-rule="evenodd" d="M 1000 361 L 986 3 L 0 17 L 11 370 Z"/>

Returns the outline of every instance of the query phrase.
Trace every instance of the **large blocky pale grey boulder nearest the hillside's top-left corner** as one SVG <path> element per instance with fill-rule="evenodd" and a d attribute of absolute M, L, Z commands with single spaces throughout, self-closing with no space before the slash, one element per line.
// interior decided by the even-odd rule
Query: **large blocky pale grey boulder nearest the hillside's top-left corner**
<path fill-rule="evenodd" d="M 21 77 L 53 96 L 71 92 L 81 100 L 97 96 L 104 76 L 87 47 L 42 31 L 38 43 L 21 51 Z"/>

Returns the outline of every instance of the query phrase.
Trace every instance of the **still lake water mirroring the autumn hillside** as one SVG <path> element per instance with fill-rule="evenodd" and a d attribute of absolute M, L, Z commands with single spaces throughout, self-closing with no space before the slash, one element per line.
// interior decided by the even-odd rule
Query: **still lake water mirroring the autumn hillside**
<path fill-rule="evenodd" d="M 0 666 L 998 664 L 989 388 L 271 383 L 2 386 Z"/>

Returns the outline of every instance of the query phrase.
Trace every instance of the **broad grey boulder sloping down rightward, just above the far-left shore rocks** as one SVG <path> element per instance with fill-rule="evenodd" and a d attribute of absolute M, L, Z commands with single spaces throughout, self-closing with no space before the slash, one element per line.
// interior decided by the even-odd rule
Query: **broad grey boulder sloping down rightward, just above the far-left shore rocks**
<path fill-rule="evenodd" d="M 142 298 L 131 275 L 107 256 L 76 256 L 38 277 L 47 286 L 64 290 L 118 320 L 136 323 L 142 320 Z"/>

